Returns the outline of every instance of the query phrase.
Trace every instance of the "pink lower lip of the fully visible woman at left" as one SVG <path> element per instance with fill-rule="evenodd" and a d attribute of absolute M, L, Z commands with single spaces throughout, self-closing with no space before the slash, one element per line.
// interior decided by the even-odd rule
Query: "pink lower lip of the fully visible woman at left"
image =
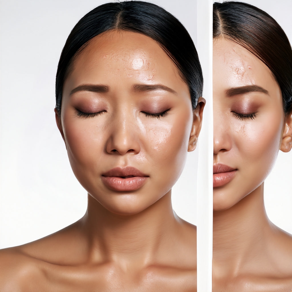
<path fill-rule="evenodd" d="M 147 176 L 134 176 L 132 178 L 121 178 L 119 176 L 102 176 L 101 180 L 111 190 L 126 192 L 140 189 L 147 180 Z"/>

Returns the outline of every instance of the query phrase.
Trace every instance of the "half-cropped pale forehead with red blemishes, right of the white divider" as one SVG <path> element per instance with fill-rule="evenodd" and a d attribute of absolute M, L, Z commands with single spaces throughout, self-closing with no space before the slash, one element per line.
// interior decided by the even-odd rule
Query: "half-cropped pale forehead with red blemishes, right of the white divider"
<path fill-rule="evenodd" d="M 220 75 L 226 87 L 256 84 L 279 88 L 270 69 L 258 57 L 224 38 L 213 42 L 213 75 Z"/>

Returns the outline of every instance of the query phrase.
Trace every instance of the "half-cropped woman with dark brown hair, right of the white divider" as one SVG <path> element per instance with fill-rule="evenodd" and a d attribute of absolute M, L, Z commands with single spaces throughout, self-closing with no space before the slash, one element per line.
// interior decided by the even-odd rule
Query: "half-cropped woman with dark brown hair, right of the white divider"
<path fill-rule="evenodd" d="M 264 180 L 291 150 L 292 51 L 278 23 L 213 6 L 213 291 L 290 291 L 292 237 L 267 218 Z M 281 192 L 281 189 L 279 189 Z"/>

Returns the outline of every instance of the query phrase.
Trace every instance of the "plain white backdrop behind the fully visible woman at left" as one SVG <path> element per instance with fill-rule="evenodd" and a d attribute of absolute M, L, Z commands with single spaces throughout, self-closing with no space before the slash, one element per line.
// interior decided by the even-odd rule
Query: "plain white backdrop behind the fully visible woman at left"
<path fill-rule="evenodd" d="M 98 0 L 0 1 L 0 247 L 23 244 L 75 222 L 87 193 L 55 125 L 55 74 L 77 21 Z M 174 14 L 196 41 L 195 1 L 150 1 Z M 206 118 L 206 117 L 205 117 Z M 196 223 L 197 151 L 173 188 L 173 208 Z"/>

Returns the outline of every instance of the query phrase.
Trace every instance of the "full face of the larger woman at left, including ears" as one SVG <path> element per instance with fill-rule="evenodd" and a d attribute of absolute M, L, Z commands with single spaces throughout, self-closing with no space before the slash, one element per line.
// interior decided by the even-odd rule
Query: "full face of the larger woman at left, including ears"
<path fill-rule="evenodd" d="M 154 40 L 112 31 L 75 60 L 56 117 L 81 185 L 126 215 L 171 190 L 195 147 L 197 116 L 188 86 Z"/>

